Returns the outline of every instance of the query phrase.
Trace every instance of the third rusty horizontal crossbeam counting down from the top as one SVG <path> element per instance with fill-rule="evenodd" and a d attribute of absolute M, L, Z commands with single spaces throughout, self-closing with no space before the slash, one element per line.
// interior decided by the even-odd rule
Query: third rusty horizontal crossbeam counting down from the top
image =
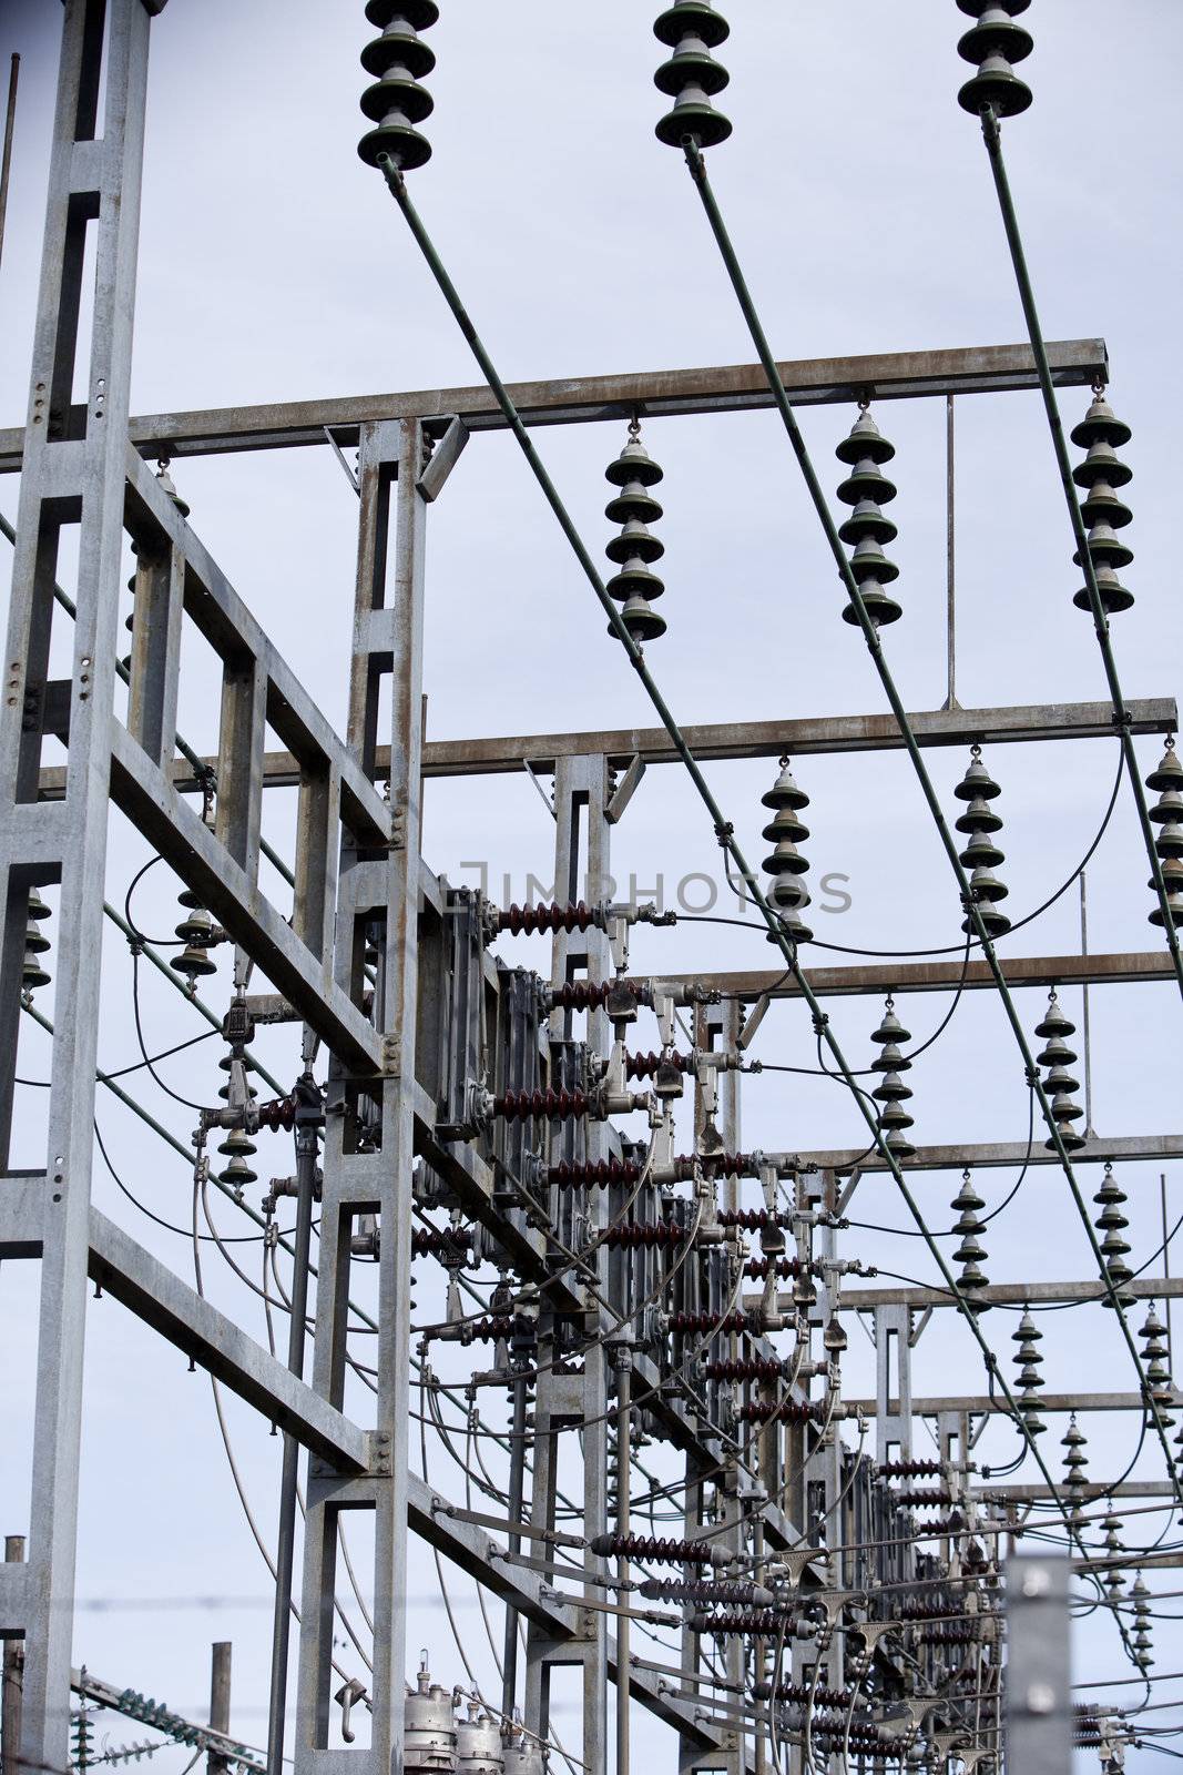
<path fill-rule="evenodd" d="M 759 925 L 752 921 L 752 930 Z M 963 960 L 938 962 L 860 962 L 848 967 L 807 967 L 805 980 L 816 998 L 858 998 L 892 992 L 952 992 L 961 985 Z M 1133 982 L 1174 980 L 1165 950 L 1130 950 L 1116 955 L 1007 955 L 1002 958 L 1009 987 L 1128 985 Z M 752 969 L 718 974 L 663 974 L 667 985 L 697 985 L 743 1003 L 768 998 L 800 998 L 796 980 L 784 969 Z M 965 967 L 965 990 L 993 987 L 988 962 Z"/>

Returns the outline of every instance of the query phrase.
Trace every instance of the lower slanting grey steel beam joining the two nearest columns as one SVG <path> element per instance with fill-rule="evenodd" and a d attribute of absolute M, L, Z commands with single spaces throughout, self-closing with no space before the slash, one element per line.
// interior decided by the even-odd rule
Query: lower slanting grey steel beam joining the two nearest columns
<path fill-rule="evenodd" d="M 48 1212 L 48 1209 L 46 1209 Z M 121 1227 L 90 1209 L 90 1280 L 337 1470 L 367 1470 L 365 1431 L 298 1381 Z"/>

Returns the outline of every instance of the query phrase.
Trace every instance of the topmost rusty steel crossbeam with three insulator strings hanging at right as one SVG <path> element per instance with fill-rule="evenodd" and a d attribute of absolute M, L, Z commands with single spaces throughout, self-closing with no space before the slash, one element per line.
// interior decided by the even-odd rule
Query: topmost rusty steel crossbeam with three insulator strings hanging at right
<path fill-rule="evenodd" d="M 1103 339 L 1066 339 L 1048 346 L 1057 383 L 1091 385 L 1109 375 Z M 780 364 L 789 399 L 798 406 L 945 394 L 997 394 L 1036 389 L 1036 360 L 1027 344 L 970 346 L 949 351 L 889 351 L 874 357 L 807 359 Z M 527 424 L 580 424 L 596 419 L 665 414 L 733 414 L 772 406 L 759 364 L 706 369 L 658 369 L 623 376 L 564 376 L 514 382 L 514 406 Z M 131 421 L 131 440 L 145 456 L 204 456 L 218 451 L 328 447 L 358 442 L 358 428 L 383 419 L 459 417 L 468 431 L 500 430 L 505 421 L 488 387 L 419 389 L 401 394 L 349 394 L 325 401 L 277 401 L 266 406 L 151 414 Z M 0 431 L 0 472 L 21 465 L 23 428 Z"/>

